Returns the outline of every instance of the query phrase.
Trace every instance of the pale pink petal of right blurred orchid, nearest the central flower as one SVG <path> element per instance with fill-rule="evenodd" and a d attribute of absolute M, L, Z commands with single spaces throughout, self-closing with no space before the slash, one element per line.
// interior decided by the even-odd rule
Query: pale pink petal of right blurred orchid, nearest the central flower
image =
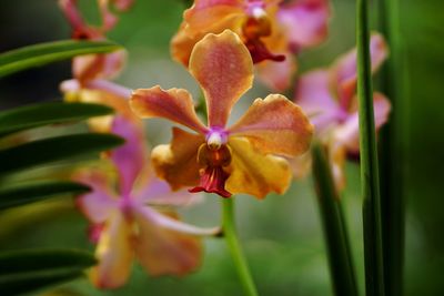
<path fill-rule="evenodd" d="M 317 134 L 335 125 L 343 113 L 331 94 L 329 72 L 325 70 L 315 70 L 302 75 L 294 98 L 314 124 Z"/>

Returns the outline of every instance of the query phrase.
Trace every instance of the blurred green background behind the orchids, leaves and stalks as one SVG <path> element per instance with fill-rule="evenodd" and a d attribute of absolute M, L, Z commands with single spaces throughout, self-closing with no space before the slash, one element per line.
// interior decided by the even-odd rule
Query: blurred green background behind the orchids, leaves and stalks
<path fill-rule="evenodd" d="M 98 20 L 95 1 L 79 1 L 92 22 Z M 441 171 L 444 165 L 444 25 L 442 0 L 401 3 L 401 31 L 407 59 L 408 92 L 400 109 L 405 119 L 402 149 L 405 155 L 403 190 L 406 200 L 405 295 L 444 294 L 444 193 Z M 373 28 L 377 29 L 379 8 L 374 4 Z M 185 4 L 180 0 L 135 0 L 109 38 L 129 52 L 125 70 L 117 80 L 129 88 L 185 88 L 194 95 L 199 90 L 188 72 L 169 55 L 169 41 L 181 22 Z M 329 65 L 335 57 L 354 47 L 355 1 L 332 1 L 330 37 L 321 47 L 300 55 L 300 73 Z M 37 42 L 70 38 L 70 28 L 56 0 L 0 1 L 0 52 Z M 405 73 L 400 73 L 403 75 Z M 61 100 L 59 83 L 71 78 L 70 62 L 17 73 L 0 80 L 0 110 L 40 101 Z M 259 83 L 259 82 L 258 82 Z M 377 85 L 376 85 L 377 88 Z M 233 118 L 256 96 L 268 94 L 258 85 L 242 100 Z M 289 93 L 291 95 L 291 93 Z M 170 125 L 148 123 L 151 145 L 170 140 Z M 84 125 L 67 130 L 85 129 Z M 32 136 L 54 133 L 38 130 Z M 1 165 L 1 164 L 0 164 Z M 64 166 L 44 174 L 64 172 Z M 363 246 L 360 197 L 360 171 L 347 163 L 346 206 L 353 254 L 363 290 Z M 41 172 L 27 172 L 38 177 Z M 238 224 L 241 239 L 262 295 L 332 295 L 316 197 L 312 178 L 296 181 L 284 196 L 270 195 L 258 202 L 238 197 Z M 188 222 L 202 226 L 219 224 L 216 196 L 183 211 Z M 0 249 L 68 246 L 93 249 L 87 238 L 87 222 L 70 198 L 0 213 Z M 204 242 L 202 266 L 183 277 L 151 278 L 141 267 L 121 289 L 99 292 L 88 279 L 67 284 L 47 295 L 242 295 L 235 271 L 220 238 Z M 59 294 L 58 294 L 59 293 Z"/>

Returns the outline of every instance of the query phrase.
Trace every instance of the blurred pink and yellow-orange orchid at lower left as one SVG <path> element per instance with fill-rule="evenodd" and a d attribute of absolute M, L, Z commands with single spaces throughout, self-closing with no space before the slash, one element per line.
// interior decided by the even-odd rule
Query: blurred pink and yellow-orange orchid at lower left
<path fill-rule="evenodd" d="M 90 273 L 92 283 L 100 288 L 122 286 L 134 257 L 153 276 L 184 275 L 194 271 L 201 257 L 198 236 L 215 235 L 219 228 L 188 225 L 165 207 L 186 205 L 195 196 L 171 192 L 167 182 L 150 172 L 140 125 L 115 116 L 112 132 L 127 140 L 109 155 L 117 169 L 118 186 L 104 172 L 90 170 L 74 176 L 92 188 L 77 200 L 92 223 L 91 238 L 98 243 L 99 264 Z M 159 208 L 168 211 L 162 213 Z"/>

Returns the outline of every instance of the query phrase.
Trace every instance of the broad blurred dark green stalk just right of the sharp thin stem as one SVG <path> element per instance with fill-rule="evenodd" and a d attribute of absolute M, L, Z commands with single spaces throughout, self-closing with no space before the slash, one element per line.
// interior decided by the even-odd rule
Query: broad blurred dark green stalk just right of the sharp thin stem
<path fill-rule="evenodd" d="M 386 295 L 403 295 L 405 157 L 403 139 L 406 106 L 406 68 L 401 39 L 400 0 L 380 1 L 382 31 L 387 38 L 391 55 L 383 72 L 383 91 L 392 103 L 391 120 L 382 133 L 381 206 L 384 280 Z"/>

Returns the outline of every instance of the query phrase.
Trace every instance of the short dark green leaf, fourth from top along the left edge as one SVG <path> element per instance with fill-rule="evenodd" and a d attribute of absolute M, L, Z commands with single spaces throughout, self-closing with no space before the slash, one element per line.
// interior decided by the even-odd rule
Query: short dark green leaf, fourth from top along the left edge
<path fill-rule="evenodd" d="M 90 188 L 70 181 L 44 181 L 0 190 L 0 210 L 24 205 L 67 194 L 82 194 Z"/>

